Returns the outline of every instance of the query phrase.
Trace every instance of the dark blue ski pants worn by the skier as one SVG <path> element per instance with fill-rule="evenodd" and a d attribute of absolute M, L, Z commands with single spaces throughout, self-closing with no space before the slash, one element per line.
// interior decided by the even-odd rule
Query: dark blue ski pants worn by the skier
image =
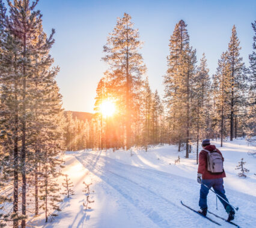
<path fill-rule="evenodd" d="M 208 179 L 208 180 L 202 180 L 202 183 L 205 184 L 209 189 L 213 187 L 213 190 L 219 194 L 223 199 L 225 199 L 228 202 L 227 196 L 225 195 L 225 190 L 223 186 L 223 178 L 216 178 L 216 179 Z M 199 200 L 199 206 L 200 208 L 207 208 L 207 194 L 209 193 L 209 189 L 201 184 L 200 189 L 200 200 Z M 226 203 L 224 200 L 222 200 L 220 197 L 218 197 L 221 203 L 223 204 L 224 208 L 227 210 L 228 208 L 231 209 L 230 206 L 228 206 L 228 203 Z M 228 208 L 227 208 L 228 206 Z M 233 208 L 232 208 L 233 210 Z"/>

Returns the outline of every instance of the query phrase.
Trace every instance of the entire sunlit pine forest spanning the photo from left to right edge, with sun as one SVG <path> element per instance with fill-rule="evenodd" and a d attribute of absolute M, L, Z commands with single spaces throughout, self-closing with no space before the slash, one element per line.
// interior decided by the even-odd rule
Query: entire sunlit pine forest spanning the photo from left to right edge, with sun
<path fill-rule="evenodd" d="M 38 0 L 0 0 L 0 227 L 26 227 L 29 216 L 56 216 L 61 202 L 63 151 L 147 151 L 178 145 L 186 158 L 202 139 L 248 141 L 256 135 L 256 21 L 249 66 L 240 56 L 236 26 L 227 49 L 209 75 L 207 56 L 197 56 L 184 20 L 169 34 L 163 97 L 152 91 L 136 22 L 124 13 L 106 34 L 102 74 L 87 120 L 64 114 L 56 83 L 59 66 L 50 50 L 55 30 L 46 34 Z M 197 145 L 197 151 L 192 151 Z M 55 212 L 54 212 L 55 211 Z"/>

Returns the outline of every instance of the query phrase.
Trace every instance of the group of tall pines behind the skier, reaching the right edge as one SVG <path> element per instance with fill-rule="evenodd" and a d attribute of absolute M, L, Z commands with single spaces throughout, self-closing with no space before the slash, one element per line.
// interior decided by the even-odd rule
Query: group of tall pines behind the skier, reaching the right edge
<path fill-rule="evenodd" d="M 252 27 L 255 31 L 255 23 Z M 203 138 L 255 136 L 255 52 L 249 55 L 250 68 L 240 57 L 240 42 L 233 26 L 227 51 L 218 68 L 209 76 L 206 56 L 196 65 L 196 50 L 189 44 L 183 20 L 169 40 L 168 71 L 165 75 L 165 102 L 171 120 L 172 141 L 191 144 Z M 255 50 L 255 36 L 253 48 Z"/>

